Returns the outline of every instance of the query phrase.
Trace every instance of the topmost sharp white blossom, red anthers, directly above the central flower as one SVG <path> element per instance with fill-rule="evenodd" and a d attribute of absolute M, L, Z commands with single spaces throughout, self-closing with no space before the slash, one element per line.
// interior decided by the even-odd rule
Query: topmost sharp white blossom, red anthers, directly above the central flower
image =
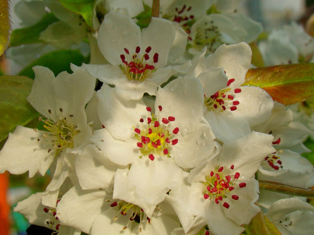
<path fill-rule="evenodd" d="M 188 64 L 165 67 L 175 36 L 175 27 L 168 20 L 152 18 L 141 31 L 131 18 L 109 12 L 100 26 L 97 41 L 110 64 L 83 64 L 80 68 L 100 81 L 115 85 L 117 94 L 126 100 L 138 100 L 144 92 L 155 95 L 158 86 L 187 68 Z M 78 67 L 73 65 L 72 69 Z"/>

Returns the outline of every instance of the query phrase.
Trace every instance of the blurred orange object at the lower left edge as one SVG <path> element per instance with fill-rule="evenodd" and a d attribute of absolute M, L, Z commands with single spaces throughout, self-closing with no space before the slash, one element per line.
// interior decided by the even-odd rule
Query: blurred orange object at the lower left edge
<path fill-rule="evenodd" d="M 9 174 L 0 174 L 0 231 L 2 235 L 9 235 L 9 213 L 10 206 L 7 202 L 7 190 L 9 185 Z"/>

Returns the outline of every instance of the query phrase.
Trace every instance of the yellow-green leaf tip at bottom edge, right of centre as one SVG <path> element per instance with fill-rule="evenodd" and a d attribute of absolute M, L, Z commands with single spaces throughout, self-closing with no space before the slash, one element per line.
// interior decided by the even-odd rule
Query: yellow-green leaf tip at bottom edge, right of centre
<path fill-rule="evenodd" d="M 255 204 L 258 205 L 257 202 Z M 276 226 L 263 215 L 262 211 L 258 212 L 251 222 L 244 227 L 246 228 L 246 235 L 281 235 Z"/>

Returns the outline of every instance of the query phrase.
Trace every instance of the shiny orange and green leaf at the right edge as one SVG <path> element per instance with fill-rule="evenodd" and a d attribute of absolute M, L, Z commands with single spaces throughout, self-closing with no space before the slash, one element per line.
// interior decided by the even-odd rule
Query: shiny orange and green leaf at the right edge
<path fill-rule="evenodd" d="M 314 63 L 249 69 L 243 85 L 259 86 L 284 105 L 314 97 Z"/>

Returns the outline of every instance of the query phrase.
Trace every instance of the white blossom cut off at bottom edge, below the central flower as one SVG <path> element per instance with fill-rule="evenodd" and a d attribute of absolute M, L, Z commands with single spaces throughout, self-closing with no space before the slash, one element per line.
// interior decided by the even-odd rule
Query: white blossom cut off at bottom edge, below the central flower
<path fill-rule="evenodd" d="M 109 234 L 169 234 L 179 223 L 166 215 L 157 216 L 159 207 L 148 217 L 127 189 L 128 200 L 112 199 L 112 193 L 102 189 L 70 189 L 58 202 L 56 216 L 91 235 Z"/>

